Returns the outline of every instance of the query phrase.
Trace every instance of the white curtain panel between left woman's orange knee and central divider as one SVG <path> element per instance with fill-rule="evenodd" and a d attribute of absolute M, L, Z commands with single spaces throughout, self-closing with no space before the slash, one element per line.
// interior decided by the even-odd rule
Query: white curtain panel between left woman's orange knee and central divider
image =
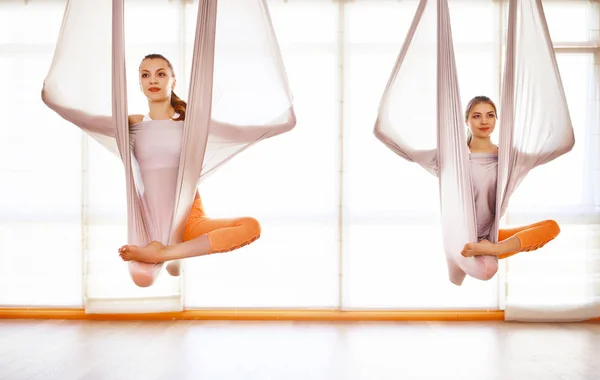
<path fill-rule="evenodd" d="M 210 217 L 253 216 L 262 233 L 240 250 L 188 260 L 186 308 L 338 305 L 338 4 L 278 0 L 268 5 L 298 123 L 201 184 Z M 192 18 L 188 14 L 187 25 Z M 270 187 L 277 190 L 264 190 Z"/>

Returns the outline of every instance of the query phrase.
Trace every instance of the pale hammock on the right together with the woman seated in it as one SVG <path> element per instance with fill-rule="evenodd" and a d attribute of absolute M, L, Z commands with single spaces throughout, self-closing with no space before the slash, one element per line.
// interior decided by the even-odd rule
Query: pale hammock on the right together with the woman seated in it
<path fill-rule="evenodd" d="M 499 229 L 509 198 L 527 173 L 575 143 L 540 0 L 509 3 L 502 79 L 499 146 L 494 152 L 491 143 L 479 144 L 485 149 L 478 151 L 476 142 L 489 142 L 493 126 L 486 123 L 495 122 L 495 106 L 486 97 L 474 98 L 463 119 L 448 1 L 421 0 L 375 123 L 374 133 L 387 147 L 438 177 L 444 251 L 456 285 L 466 275 L 492 278 L 498 258 L 537 249 L 560 231 L 551 220 Z M 422 112 L 433 107 L 434 112 Z M 470 145 L 465 121 L 478 134 Z M 414 136 L 415 128 L 427 136 Z M 498 242 L 502 249 L 494 245 Z"/>

